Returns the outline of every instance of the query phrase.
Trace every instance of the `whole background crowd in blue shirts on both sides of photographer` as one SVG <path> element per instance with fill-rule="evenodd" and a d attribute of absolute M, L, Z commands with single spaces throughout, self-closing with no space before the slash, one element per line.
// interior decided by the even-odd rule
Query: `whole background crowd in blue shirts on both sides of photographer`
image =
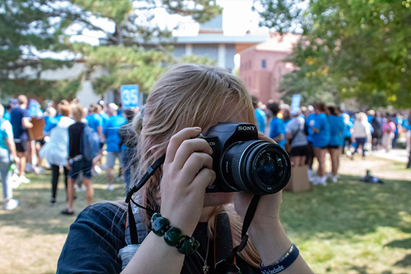
<path fill-rule="evenodd" d="M 384 149 L 388 152 L 397 147 L 402 132 L 407 134 L 407 150 L 411 147 L 410 116 L 373 110 L 345 112 L 323 103 L 290 109 L 282 101 L 264 105 L 256 96 L 252 96 L 252 101 L 259 130 L 288 151 L 294 166 L 308 166 L 308 179 L 312 184 L 325 186 L 327 179 L 338 182 L 340 155 L 353 159 L 359 152 L 362 158 L 366 157 L 366 151 Z M 42 106 L 25 95 L 10 100 L 5 108 L 1 105 L 0 160 L 5 208 L 12 210 L 18 206 L 18 201 L 12 199 L 12 188 L 30 182 L 25 172 L 42 173 L 43 159 L 52 173 L 51 206 L 56 203 L 58 181 L 63 173 L 68 201 L 63 214 L 73 214 L 75 192 L 86 191 L 86 200 L 92 203 L 94 190 L 90 178 L 93 174 L 105 170 L 107 189 L 114 190 L 116 159 L 120 166 L 117 178 L 125 181 L 127 190 L 130 169 L 125 163 L 132 161 L 131 149 L 136 147 L 127 125 L 132 123 L 138 110 L 121 112 L 114 103 L 103 101 L 89 108 L 82 107 L 76 100 L 62 100 L 57 104 L 47 101 Z M 40 138 L 33 140 L 36 137 L 30 136 L 29 129 L 34 127 L 35 118 L 44 121 L 44 129 Z M 100 142 L 99 152 L 90 162 L 82 159 L 80 151 L 79 136 L 86 125 L 98 134 Z M 325 173 L 326 153 L 331 159 L 330 173 Z M 101 164 L 103 155 L 106 158 Z M 314 158 L 319 163 L 316 174 L 312 173 Z M 14 162 L 16 169 L 11 171 Z M 410 165 L 409 162 L 407 167 Z"/>

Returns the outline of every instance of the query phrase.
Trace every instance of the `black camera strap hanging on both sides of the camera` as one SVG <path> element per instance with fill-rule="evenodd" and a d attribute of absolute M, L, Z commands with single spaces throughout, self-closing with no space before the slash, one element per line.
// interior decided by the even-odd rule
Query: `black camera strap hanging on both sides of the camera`
<path fill-rule="evenodd" d="M 151 166 L 149 166 L 149 169 L 147 169 L 147 172 L 145 175 L 142 176 L 140 179 L 140 182 L 136 184 L 136 186 L 133 186 L 127 193 L 127 197 L 125 198 L 125 202 L 128 203 L 128 221 L 129 221 L 129 230 L 130 230 L 130 238 L 132 241 L 132 244 L 138 244 L 138 233 L 137 233 L 137 227 L 136 227 L 136 220 L 134 219 L 134 214 L 132 210 L 132 203 L 134 203 L 136 206 L 139 208 L 145 209 L 147 211 L 153 212 L 153 210 L 150 210 L 149 208 L 146 208 L 144 206 L 139 205 L 132 199 L 132 196 L 135 192 L 140 190 L 142 186 L 144 186 L 149 177 L 151 177 L 154 172 L 164 163 L 164 160 L 166 159 L 166 154 L 164 153 L 158 160 L 154 162 Z M 221 260 L 220 262 L 216 263 L 216 272 L 217 273 L 238 273 L 239 269 L 234 264 L 234 258 L 236 258 L 236 255 L 238 252 L 242 251 L 244 249 L 245 245 L 247 245 L 247 241 L 249 236 L 247 235 L 247 230 L 249 229 L 249 226 L 251 225 L 251 221 L 253 221 L 254 214 L 256 213 L 257 206 L 258 206 L 258 201 L 260 201 L 260 195 L 254 195 L 253 199 L 251 199 L 251 202 L 249 204 L 249 207 L 247 208 L 247 212 L 245 214 L 244 222 L 242 223 L 242 230 L 241 230 L 241 242 L 240 245 L 234 247 L 230 252 L 229 256 L 225 260 Z M 132 202 L 132 203 L 131 203 Z"/>

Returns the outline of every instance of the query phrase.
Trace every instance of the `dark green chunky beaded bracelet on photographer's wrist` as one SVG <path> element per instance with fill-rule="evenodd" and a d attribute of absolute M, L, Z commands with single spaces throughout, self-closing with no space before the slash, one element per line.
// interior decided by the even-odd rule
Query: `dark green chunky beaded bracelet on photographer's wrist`
<path fill-rule="evenodd" d="M 194 253 L 200 246 L 199 242 L 187 235 L 183 235 L 180 229 L 171 227 L 169 220 L 161 216 L 160 213 L 154 213 L 151 217 L 151 229 L 157 236 L 164 236 L 167 245 L 177 247 L 177 251 L 184 255 Z"/>

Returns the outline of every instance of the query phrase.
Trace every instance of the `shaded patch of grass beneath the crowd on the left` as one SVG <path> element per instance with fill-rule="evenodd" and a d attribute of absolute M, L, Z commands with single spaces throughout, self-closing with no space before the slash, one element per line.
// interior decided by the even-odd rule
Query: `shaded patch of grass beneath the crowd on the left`
<path fill-rule="evenodd" d="M 66 192 L 64 182 L 60 176 L 60 184 L 55 206 L 50 205 L 51 197 L 51 175 L 32 175 L 30 184 L 22 184 L 14 189 L 14 198 L 18 199 L 20 205 L 12 212 L 1 214 L 0 226 L 12 226 L 25 229 L 21 237 L 30 237 L 33 234 L 67 234 L 69 227 L 75 221 L 77 214 L 86 208 L 85 192 L 77 193 L 74 203 L 75 214 L 63 215 L 60 212 L 66 208 Z M 115 184 L 113 191 L 105 189 L 105 180 L 97 176 L 93 179 L 95 195 L 93 203 L 103 201 L 115 201 L 124 199 L 124 188 L 122 184 Z M 104 184 L 102 186 L 102 184 Z"/>

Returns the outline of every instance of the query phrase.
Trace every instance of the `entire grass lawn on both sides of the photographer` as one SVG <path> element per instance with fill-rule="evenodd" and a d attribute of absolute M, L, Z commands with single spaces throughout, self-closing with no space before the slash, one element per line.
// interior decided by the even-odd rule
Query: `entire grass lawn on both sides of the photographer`
<path fill-rule="evenodd" d="M 365 184 L 370 169 L 384 184 Z M 411 172 L 390 160 L 341 160 L 340 182 L 308 192 L 284 192 L 281 219 L 314 273 L 411 273 Z M 55 273 L 58 256 L 75 216 L 51 208 L 50 179 L 27 175 L 30 184 L 14 190 L 21 206 L 7 212 L 0 203 L 0 273 Z M 95 202 L 123 199 L 123 185 L 105 190 L 105 176 L 93 178 Z M 77 194 L 75 211 L 86 206 Z M 79 252 L 82 252 L 79 250 Z"/>

